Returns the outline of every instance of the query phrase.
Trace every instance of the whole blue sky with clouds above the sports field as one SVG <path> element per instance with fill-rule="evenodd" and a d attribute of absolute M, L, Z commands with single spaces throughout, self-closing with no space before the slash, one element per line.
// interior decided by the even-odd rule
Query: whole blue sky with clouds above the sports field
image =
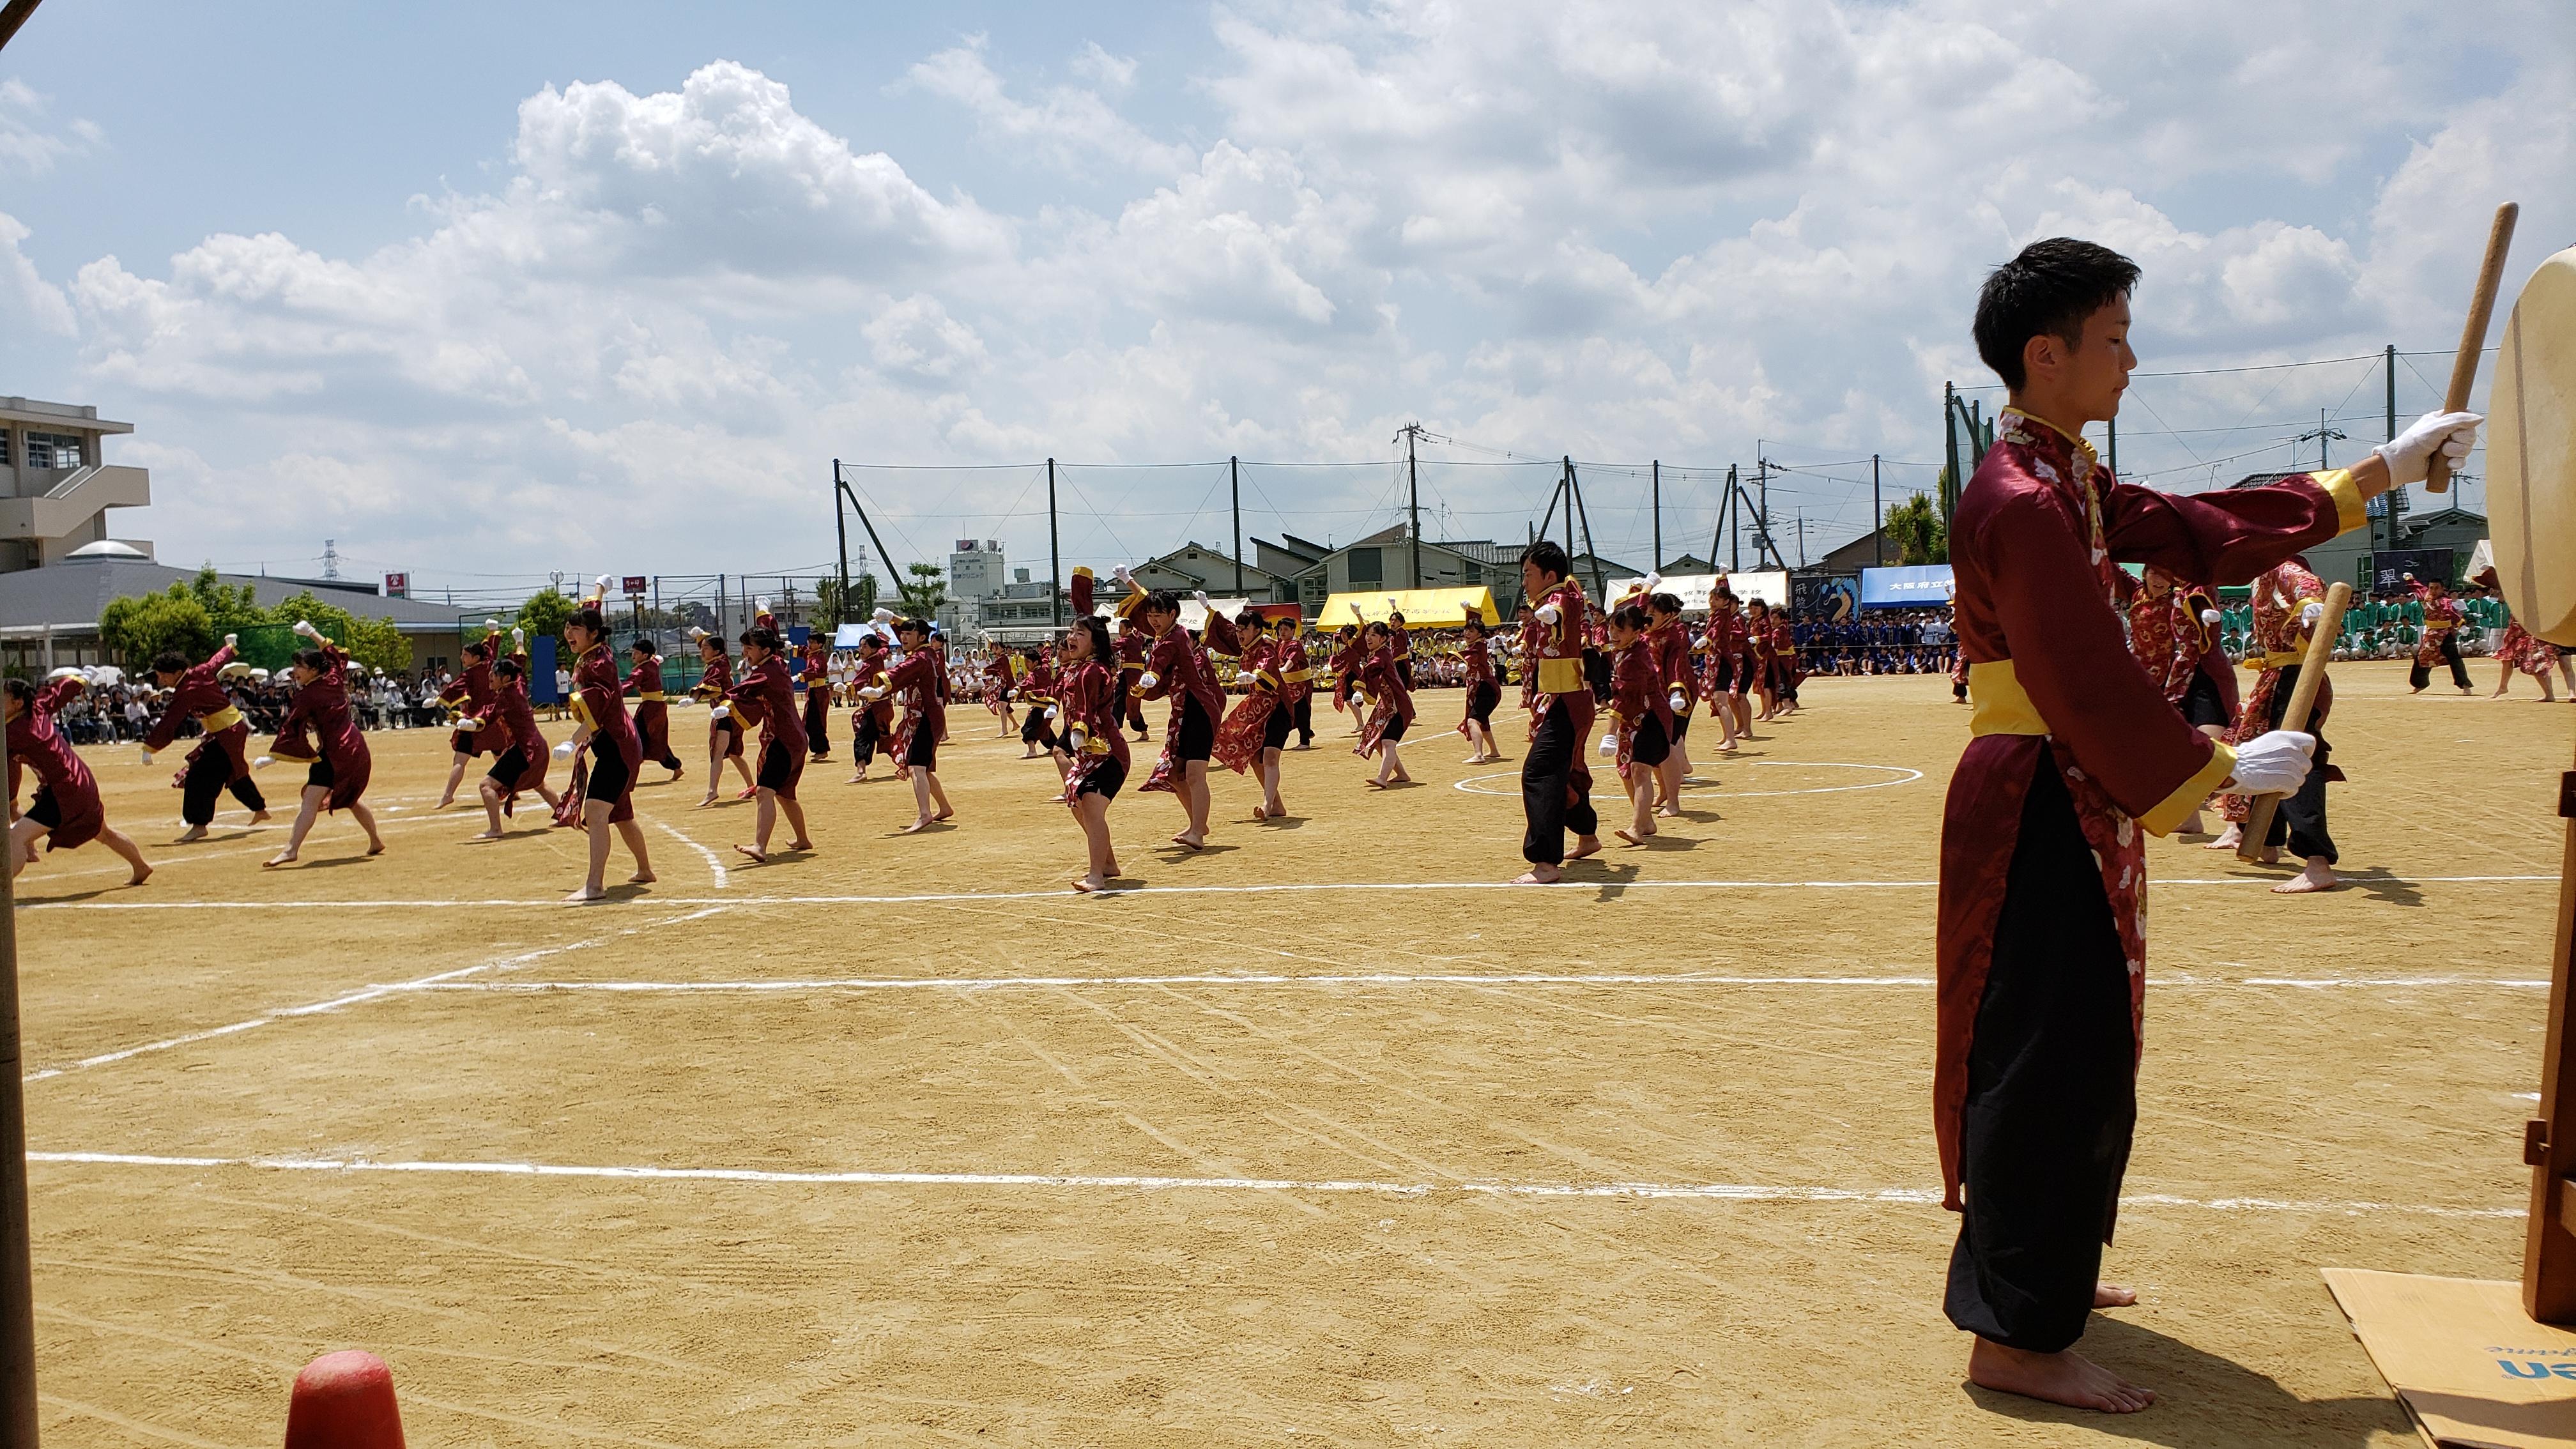
<path fill-rule="evenodd" d="M 814 565 L 835 454 L 1015 464 L 863 485 L 899 554 L 1043 565 L 1018 464 L 1383 459 L 1412 418 L 1473 443 L 1435 534 L 1525 529 L 1548 474 L 1497 451 L 1759 441 L 1821 552 L 1852 459 L 1929 485 L 1976 278 L 2038 235 L 2138 255 L 2146 371 L 2447 348 L 2494 201 L 2517 281 L 2576 240 L 2571 57 L 2553 3 L 64 0 L 0 54 L 0 392 L 139 425 L 165 559 L 281 572 Z M 2375 438 L 2372 364 L 2146 379 L 2123 467 L 2282 467 L 2318 407 Z M 1066 492 L 1074 559 L 1226 534 L 1221 472 Z M 1247 531 L 1396 498 L 1265 469 Z M 1708 480 L 1664 498 L 1705 547 Z M 1643 474 L 1587 500 L 1643 562 Z"/>

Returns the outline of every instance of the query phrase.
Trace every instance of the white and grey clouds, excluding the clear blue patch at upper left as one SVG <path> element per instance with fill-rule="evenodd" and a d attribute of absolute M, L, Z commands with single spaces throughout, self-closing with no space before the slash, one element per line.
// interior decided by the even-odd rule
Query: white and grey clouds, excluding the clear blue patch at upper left
<path fill-rule="evenodd" d="M 2032 237 L 2141 260 L 2148 369 L 2445 345 L 2494 201 L 2524 201 L 2517 278 L 2576 237 L 2576 46 L 2473 54 L 2383 0 L 2336 10 L 2329 59 L 2308 10 L 2251 10 L 1283 0 L 1211 10 L 1195 75 L 1087 41 L 1023 77 L 984 36 L 889 64 L 1095 206 L 927 186 L 711 59 L 526 95 L 484 186 L 363 255 L 209 232 L 49 278 L 44 217 L 0 214 L 0 325 L 70 338 L 57 394 L 152 407 L 165 557 L 332 534 L 428 578 L 811 562 L 762 521 L 801 531 L 832 454 L 1358 459 L 1419 418 L 1548 456 L 1929 456 L 1942 379 L 1984 382 L 1976 278 Z M 1141 121 L 1157 95 L 1208 134 Z M 39 101 L 0 80 L 0 168 L 103 144 Z M 2316 382 L 2159 407 L 2290 418 L 2352 379 Z M 2236 446 L 2138 428 L 2125 462 Z M 945 505 L 1025 552 L 1043 516 L 969 523 L 1023 485 L 951 474 L 909 534 Z M 1131 498 L 1121 541 L 1177 541 L 1198 487 Z M 1350 536 L 1381 492 L 1296 508 Z"/>

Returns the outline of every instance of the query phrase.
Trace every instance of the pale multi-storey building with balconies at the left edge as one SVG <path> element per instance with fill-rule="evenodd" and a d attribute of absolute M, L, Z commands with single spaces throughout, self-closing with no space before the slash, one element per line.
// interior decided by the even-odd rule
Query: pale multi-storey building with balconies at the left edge
<path fill-rule="evenodd" d="M 152 557 L 149 539 L 118 539 L 108 529 L 111 508 L 152 503 L 152 474 L 139 467 L 108 464 L 100 443 L 111 433 L 131 433 L 134 423 L 111 423 L 98 407 L 0 397 L 0 572 L 59 565 L 72 549 L 100 549 L 118 557 Z"/>

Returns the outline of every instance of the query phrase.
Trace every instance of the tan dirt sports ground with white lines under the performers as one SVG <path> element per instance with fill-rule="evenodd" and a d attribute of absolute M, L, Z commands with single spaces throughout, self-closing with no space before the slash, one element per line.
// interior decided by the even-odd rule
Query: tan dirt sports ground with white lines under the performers
<path fill-rule="evenodd" d="M 1940 1312 L 1968 712 L 1929 678 L 1808 683 L 1556 890 L 1492 884 L 1517 763 L 1461 763 L 1453 691 L 1414 789 L 1365 792 L 1327 709 L 1285 822 L 1221 776 L 1182 856 L 1172 797 L 1121 797 L 1110 897 L 1064 895 L 1048 766 L 974 709 L 956 828 L 896 838 L 909 789 L 845 786 L 837 737 L 819 851 L 768 866 L 683 748 L 639 792 L 662 879 L 600 908 L 554 905 L 577 833 L 428 812 L 438 732 L 371 737 L 374 861 L 325 820 L 263 871 L 240 812 L 142 890 L 52 856 L 18 882 L 46 1436 L 276 1444 L 296 1366 L 358 1346 L 412 1444 L 2414 1444 L 2318 1269 L 2519 1271 L 2576 709 L 2336 688 L 2352 884 L 2151 853 L 2107 1261 L 2141 1305 L 2084 1341 L 2143 1415 L 1965 1387 Z M 175 835 L 175 755 L 90 761 Z"/>

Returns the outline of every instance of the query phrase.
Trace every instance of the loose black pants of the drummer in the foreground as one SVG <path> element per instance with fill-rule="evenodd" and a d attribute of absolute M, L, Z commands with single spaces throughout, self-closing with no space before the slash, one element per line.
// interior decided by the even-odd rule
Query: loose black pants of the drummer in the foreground
<path fill-rule="evenodd" d="M 1968 1049 L 1950 1323 L 2032 1354 L 2084 1336 L 2138 1127 L 2136 1042 L 2102 874 L 2043 750 Z"/>

